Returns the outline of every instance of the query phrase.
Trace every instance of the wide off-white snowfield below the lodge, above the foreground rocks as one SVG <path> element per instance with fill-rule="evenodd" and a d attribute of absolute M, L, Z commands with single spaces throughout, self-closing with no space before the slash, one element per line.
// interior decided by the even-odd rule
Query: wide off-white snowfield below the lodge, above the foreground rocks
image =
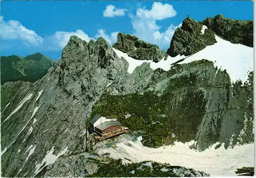
<path fill-rule="evenodd" d="M 236 146 L 224 149 L 222 145 L 215 149 L 216 145 L 199 152 L 189 148 L 194 141 L 188 143 L 176 142 L 174 146 L 162 146 L 160 148 L 148 148 L 141 144 L 142 137 L 132 141 L 132 136 L 121 138 L 116 147 L 97 148 L 98 154 L 110 153 L 113 159 L 123 159 L 123 163 L 155 161 L 169 163 L 170 165 L 194 168 L 195 170 L 209 173 L 210 176 L 235 176 L 237 168 L 254 167 L 254 144 Z"/>

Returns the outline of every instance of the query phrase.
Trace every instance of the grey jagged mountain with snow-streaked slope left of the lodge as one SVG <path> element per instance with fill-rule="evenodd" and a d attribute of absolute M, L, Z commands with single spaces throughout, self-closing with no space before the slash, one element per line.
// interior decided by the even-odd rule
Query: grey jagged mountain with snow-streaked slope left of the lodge
<path fill-rule="evenodd" d="M 86 120 L 91 107 L 106 85 L 126 71 L 127 62 L 103 38 L 87 43 L 72 36 L 62 58 L 42 79 L 5 83 L 1 87 L 3 176 L 35 176 L 53 163 L 47 159 L 50 155 L 57 159 L 88 149 Z"/>

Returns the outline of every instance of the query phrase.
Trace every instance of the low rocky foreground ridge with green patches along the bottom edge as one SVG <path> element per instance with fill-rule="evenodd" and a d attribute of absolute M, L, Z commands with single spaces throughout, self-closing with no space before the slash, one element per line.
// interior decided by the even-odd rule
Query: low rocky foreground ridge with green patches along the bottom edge
<path fill-rule="evenodd" d="M 70 165 L 78 167 L 75 171 Z M 62 167 L 63 169 L 59 169 Z M 181 166 L 171 166 L 169 164 L 161 164 L 157 162 L 141 162 L 132 164 L 123 164 L 123 161 L 112 160 L 108 157 L 98 157 L 88 153 L 78 153 L 71 156 L 63 156 L 57 160 L 56 164 L 49 166 L 45 176 L 49 177 L 125 177 L 127 175 L 133 177 L 194 177 L 204 176 L 209 174 L 203 171 L 187 169 Z"/>

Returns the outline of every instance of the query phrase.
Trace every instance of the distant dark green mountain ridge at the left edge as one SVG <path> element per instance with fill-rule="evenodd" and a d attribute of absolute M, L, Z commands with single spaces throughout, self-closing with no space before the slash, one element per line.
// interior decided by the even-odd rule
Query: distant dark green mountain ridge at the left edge
<path fill-rule="evenodd" d="M 18 80 L 35 82 L 42 78 L 53 64 L 51 58 L 41 53 L 26 57 L 1 56 L 1 84 Z"/>

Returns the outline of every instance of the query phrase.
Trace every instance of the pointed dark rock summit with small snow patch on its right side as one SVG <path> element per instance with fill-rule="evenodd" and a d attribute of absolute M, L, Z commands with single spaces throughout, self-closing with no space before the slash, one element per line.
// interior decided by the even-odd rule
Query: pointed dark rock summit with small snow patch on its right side
<path fill-rule="evenodd" d="M 182 27 L 176 29 L 167 54 L 171 57 L 178 54 L 188 56 L 217 42 L 212 30 L 205 29 L 202 32 L 202 28 L 201 23 L 186 18 Z"/>

